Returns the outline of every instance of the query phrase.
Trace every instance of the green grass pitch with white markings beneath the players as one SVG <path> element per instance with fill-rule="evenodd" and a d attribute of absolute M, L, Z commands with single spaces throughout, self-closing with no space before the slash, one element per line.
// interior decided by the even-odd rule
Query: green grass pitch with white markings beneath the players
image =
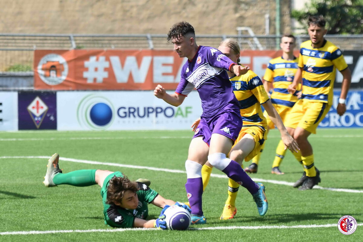
<path fill-rule="evenodd" d="M 0 241 L 362 241 L 363 226 L 343 235 L 333 225 L 344 215 L 353 216 L 358 224 L 363 221 L 363 129 L 321 129 L 310 136 L 321 171 L 319 186 L 350 189 L 342 191 L 292 188 L 288 184 L 301 177 L 302 167 L 290 153 L 281 165 L 285 175 L 271 174 L 279 141 L 278 132 L 272 130 L 258 173 L 251 175 L 265 181 L 267 214 L 259 216 L 252 196 L 240 188 L 236 217 L 219 220 L 228 179 L 214 176 L 203 195 L 207 224 L 193 226 L 199 230 L 113 229 L 103 224 L 97 185 L 45 188 L 42 184 L 48 159 L 39 156 L 57 152 L 61 159 L 73 159 L 60 160 L 63 172 L 122 171 L 130 179 L 150 179 L 151 188 L 163 197 L 187 201 L 182 172 L 192 135 L 191 131 L 0 132 Z M 223 175 L 216 169 L 213 174 Z M 159 213 L 159 208 L 149 206 L 150 219 Z"/>

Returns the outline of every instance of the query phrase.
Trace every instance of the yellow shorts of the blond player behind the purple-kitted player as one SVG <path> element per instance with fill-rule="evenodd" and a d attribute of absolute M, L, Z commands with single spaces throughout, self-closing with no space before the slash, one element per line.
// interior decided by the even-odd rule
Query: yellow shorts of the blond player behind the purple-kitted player
<path fill-rule="evenodd" d="M 245 157 L 245 161 L 249 161 L 261 151 L 262 144 L 267 139 L 267 132 L 257 126 L 242 127 L 240 134 L 234 142 L 234 145 L 237 144 L 245 134 L 251 135 L 254 139 L 254 148 L 251 153 L 249 153 Z M 232 148 L 234 147 L 234 145 L 232 146 Z"/>

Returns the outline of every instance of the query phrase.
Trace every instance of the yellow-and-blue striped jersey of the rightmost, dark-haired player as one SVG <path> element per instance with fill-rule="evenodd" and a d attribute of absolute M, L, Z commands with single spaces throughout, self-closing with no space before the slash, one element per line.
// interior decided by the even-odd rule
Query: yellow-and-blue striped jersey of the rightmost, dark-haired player
<path fill-rule="evenodd" d="M 300 46 L 298 66 L 303 68 L 301 98 L 332 104 L 335 69 L 348 67 L 340 49 L 327 40 L 321 48 L 311 47 L 311 40 L 305 41 Z"/>

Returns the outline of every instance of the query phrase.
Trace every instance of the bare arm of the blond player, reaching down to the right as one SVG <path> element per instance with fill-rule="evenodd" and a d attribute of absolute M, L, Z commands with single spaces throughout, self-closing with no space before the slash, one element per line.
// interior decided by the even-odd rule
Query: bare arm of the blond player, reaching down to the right
<path fill-rule="evenodd" d="M 287 132 L 287 130 L 284 126 L 284 123 L 282 123 L 280 115 L 278 115 L 276 109 L 272 106 L 271 101 L 268 100 L 267 102 L 262 104 L 262 106 L 264 106 L 271 121 L 275 124 L 275 126 L 280 131 L 281 139 L 284 142 L 284 144 L 286 145 L 286 147 L 289 148 L 290 151 L 292 151 L 292 152 L 294 152 L 294 151 L 298 152 L 299 147 L 298 147 L 296 141 L 294 140 L 294 138 L 291 137 L 289 132 Z M 285 149 L 286 149 L 286 147 L 285 147 Z"/>

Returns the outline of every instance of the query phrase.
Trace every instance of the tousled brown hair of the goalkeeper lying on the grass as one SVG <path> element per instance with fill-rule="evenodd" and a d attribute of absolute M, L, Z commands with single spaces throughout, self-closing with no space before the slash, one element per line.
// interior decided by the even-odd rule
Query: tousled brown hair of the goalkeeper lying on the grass
<path fill-rule="evenodd" d="M 123 177 L 114 176 L 110 179 L 107 186 L 107 204 L 115 204 L 115 202 L 121 203 L 125 191 L 137 192 L 139 190 L 138 185 L 134 181 L 130 181 L 127 176 Z"/>

